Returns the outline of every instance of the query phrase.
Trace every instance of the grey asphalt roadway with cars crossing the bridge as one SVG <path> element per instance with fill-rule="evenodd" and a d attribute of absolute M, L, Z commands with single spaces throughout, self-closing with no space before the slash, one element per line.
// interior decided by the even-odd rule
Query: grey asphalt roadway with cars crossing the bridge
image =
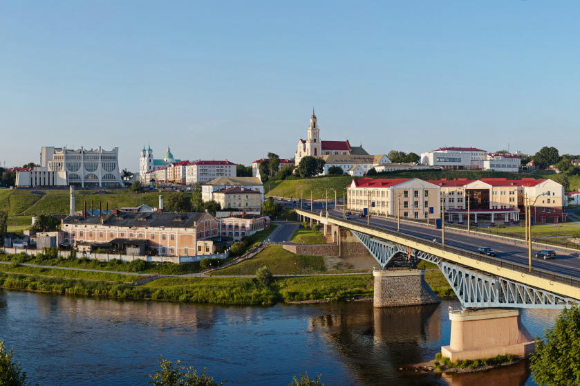
<path fill-rule="evenodd" d="M 324 201 L 314 202 L 314 211 L 319 212 L 323 210 L 322 204 Z M 342 218 L 342 208 L 339 207 L 334 209 L 334 204 L 328 205 L 330 208 L 329 214 L 331 216 Z M 366 224 L 366 218 L 355 217 L 353 215 L 350 221 L 357 223 Z M 380 217 L 371 217 L 370 224 L 372 226 L 377 226 L 379 228 L 385 228 L 388 230 L 397 230 L 397 221 L 391 219 L 384 219 Z M 580 226 L 579 226 L 580 230 Z M 411 235 L 414 237 L 419 237 L 427 241 L 433 241 L 434 238 L 438 242 L 441 242 L 441 230 L 436 230 L 431 226 L 415 225 L 413 223 L 402 222 L 400 225 L 400 232 L 406 235 Z M 522 244 L 521 241 L 507 241 L 503 239 L 496 239 L 491 235 L 474 235 L 468 234 L 465 231 L 451 230 L 450 228 L 445 228 L 445 245 L 453 246 L 456 248 L 462 248 L 471 252 L 476 252 L 477 248 L 481 246 L 487 246 L 496 251 L 496 257 L 498 259 L 503 259 L 504 261 L 514 262 L 518 264 L 528 264 L 528 252 L 527 244 Z M 537 250 L 548 248 L 556 250 L 556 259 L 554 260 L 543 260 L 536 259 L 534 257 L 534 252 Z M 571 255 L 570 252 L 565 250 L 559 250 L 556 247 L 540 247 L 532 245 L 532 266 L 534 268 L 541 268 L 543 270 L 549 270 L 553 273 L 559 273 L 561 275 L 569 275 L 572 277 L 580 277 L 580 257 L 576 255 Z"/>

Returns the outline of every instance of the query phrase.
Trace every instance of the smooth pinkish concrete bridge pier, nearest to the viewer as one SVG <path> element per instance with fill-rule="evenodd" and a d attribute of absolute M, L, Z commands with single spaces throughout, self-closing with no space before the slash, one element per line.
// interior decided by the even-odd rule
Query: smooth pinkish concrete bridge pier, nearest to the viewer
<path fill-rule="evenodd" d="M 534 338 L 521 322 L 520 309 L 449 309 L 451 342 L 441 354 L 452 361 L 535 351 Z"/>

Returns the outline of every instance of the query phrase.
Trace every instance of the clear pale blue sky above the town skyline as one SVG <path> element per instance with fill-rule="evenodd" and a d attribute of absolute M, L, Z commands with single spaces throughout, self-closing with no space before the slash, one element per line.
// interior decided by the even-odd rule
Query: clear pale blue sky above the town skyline
<path fill-rule="evenodd" d="M 578 154 L 580 1 L 0 1 L 0 161 L 323 140 Z"/>

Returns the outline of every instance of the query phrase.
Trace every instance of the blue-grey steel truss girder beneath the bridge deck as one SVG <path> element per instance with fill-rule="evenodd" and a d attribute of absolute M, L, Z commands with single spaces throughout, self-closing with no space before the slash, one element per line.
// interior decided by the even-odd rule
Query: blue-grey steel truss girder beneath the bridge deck
<path fill-rule="evenodd" d="M 353 232 L 353 235 L 371 252 L 383 269 L 395 255 L 400 253 L 404 253 L 411 259 L 422 259 L 436 264 L 464 308 L 562 309 L 564 306 L 577 303 L 575 299 L 514 282 L 505 277 L 451 264 L 431 252 L 409 249 L 397 243 L 374 239 L 354 230 L 350 232 Z"/>

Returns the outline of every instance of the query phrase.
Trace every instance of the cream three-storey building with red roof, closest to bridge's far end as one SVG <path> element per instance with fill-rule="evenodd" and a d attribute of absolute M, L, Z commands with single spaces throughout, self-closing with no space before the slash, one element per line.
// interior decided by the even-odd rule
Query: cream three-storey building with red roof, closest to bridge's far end
<path fill-rule="evenodd" d="M 418 178 L 354 179 L 348 187 L 348 209 L 379 216 L 440 217 L 440 188 Z M 433 213 L 430 213 L 433 208 Z"/>

